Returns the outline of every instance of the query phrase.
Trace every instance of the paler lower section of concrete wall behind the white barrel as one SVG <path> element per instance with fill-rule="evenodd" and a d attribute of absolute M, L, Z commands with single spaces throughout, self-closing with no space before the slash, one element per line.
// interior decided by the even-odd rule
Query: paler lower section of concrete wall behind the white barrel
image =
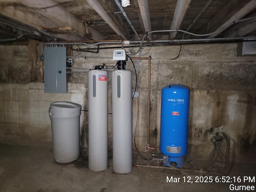
<path fill-rule="evenodd" d="M 78 88 L 79 90 L 78 90 Z M 52 146 L 49 107 L 52 102 L 67 101 L 82 105 L 84 84 L 69 84 L 67 94 L 44 93 L 43 83 L 0 83 L 0 142 L 32 146 Z M 84 111 L 80 116 L 81 132 Z M 81 138 L 81 142 L 84 138 Z"/>

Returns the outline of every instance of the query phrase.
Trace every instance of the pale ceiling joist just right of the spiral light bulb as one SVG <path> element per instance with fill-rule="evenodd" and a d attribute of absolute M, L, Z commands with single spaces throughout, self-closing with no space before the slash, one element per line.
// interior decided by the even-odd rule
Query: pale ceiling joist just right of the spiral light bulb
<path fill-rule="evenodd" d="M 150 22 L 150 15 L 149 15 L 149 8 L 148 8 L 148 0 L 138 0 L 140 14 L 142 17 L 143 25 L 146 32 L 151 31 L 151 22 Z M 152 40 L 152 34 L 148 35 L 148 39 Z"/>

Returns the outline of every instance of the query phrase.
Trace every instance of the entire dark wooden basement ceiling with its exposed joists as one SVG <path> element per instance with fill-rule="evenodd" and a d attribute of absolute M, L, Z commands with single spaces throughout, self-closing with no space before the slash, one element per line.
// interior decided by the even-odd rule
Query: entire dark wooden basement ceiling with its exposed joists
<path fill-rule="evenodd" d="M 132 0 L 124 8 L 124 16 L 117 5 L 121 0 L 115 1 L 0 0 L 0 36 L 22 34 L 20 41 L 135 41 L 137 31 L 141 37 L 147 34 L 146 40 L 184 38 L 177 29 L 208 34 L 208 38 L 256 36 L 256 0 Z M 126 16 L 133 23 L 133 32 Z M 169 36 L 150 33 L 167 29 L 174 32 Z"/>

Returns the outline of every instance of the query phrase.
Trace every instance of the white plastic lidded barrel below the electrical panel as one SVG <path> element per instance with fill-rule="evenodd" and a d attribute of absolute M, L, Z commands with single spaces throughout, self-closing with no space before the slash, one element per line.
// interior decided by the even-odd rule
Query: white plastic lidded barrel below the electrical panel
<path fill-rule="evenodd" d="M 81 105 L 72 102 L 54 102 L 50 105 L 49 116 L 56 162 L 72 162 L 80 155 L 81 108 Z"/>

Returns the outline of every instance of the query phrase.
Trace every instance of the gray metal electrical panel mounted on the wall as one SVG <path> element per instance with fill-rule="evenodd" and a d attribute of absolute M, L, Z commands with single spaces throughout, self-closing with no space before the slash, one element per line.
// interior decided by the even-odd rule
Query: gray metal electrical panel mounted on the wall
<path fill-rule="evenodd" d="M 44 92 L 66 93 L 66 47 L 44 47 Z"/>

